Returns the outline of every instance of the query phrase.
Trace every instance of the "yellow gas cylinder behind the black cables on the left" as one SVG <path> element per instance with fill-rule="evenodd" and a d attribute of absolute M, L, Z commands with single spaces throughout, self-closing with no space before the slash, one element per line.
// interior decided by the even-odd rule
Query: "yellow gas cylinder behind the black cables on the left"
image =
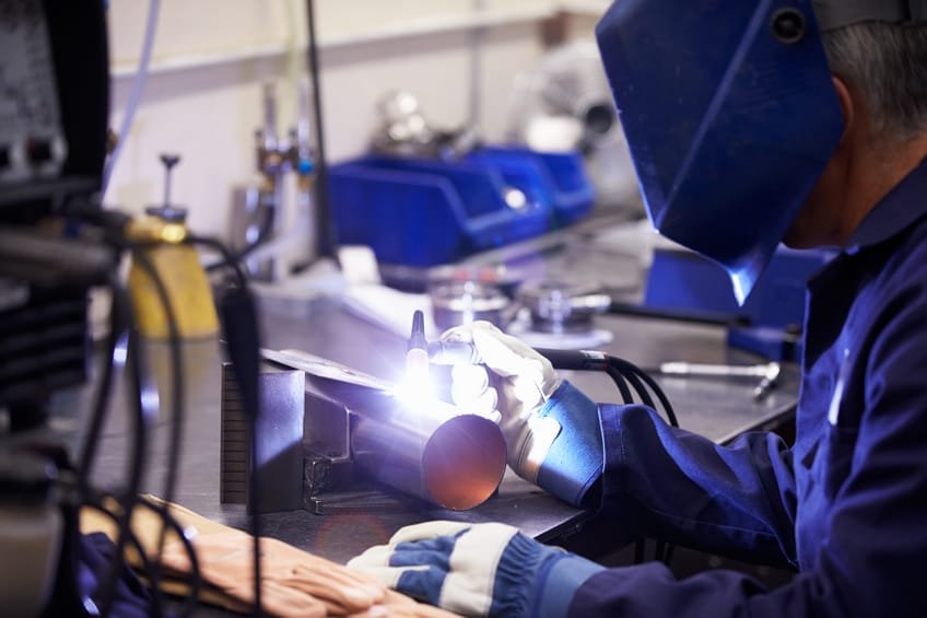
<path fill-rule="evenodd" d="M 166 241 L 138 250 L 143 252 L 164 283 L 178 334 L 183 339 L 215 336 L 219 319 L 209 279 L 196 248 L 179 242 L 186 236 L 186 211 L 157 207 L 146 213 L 146 218 L 132 224 L 133 233 L 129 235 Z M 129 269 L 129 293 L 139 333 L 150 339 L 166 339 L 167 313 L 149 271 L 136 258 Z"/>

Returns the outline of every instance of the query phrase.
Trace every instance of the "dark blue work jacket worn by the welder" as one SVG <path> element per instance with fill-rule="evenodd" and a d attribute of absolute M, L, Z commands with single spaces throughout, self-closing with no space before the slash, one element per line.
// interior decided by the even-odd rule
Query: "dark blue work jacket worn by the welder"
<path fill-rule="evenodd" d="M 797 440 L 730 446 L 599 406 L 603 508 L 656 538 L 791 564 L 767 591 L 659 562 L 588 579 L 576 616 L 927 616 L 927 164 L 809 282 Z"/>

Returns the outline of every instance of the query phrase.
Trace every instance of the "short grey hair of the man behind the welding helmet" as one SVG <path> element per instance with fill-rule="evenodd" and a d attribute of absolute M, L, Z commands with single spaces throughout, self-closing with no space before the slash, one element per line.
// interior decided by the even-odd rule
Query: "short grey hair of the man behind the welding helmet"
<path fill-rule="evenodd" d="M 927 25 L 861 22 L 823 35 L 831 72 L 861 92 L 877 133 L 927 132 Z"/>

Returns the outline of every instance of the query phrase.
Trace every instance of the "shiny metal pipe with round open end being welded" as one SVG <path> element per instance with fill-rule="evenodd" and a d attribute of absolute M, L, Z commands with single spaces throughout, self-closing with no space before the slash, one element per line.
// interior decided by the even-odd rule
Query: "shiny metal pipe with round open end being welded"
<path fill-rule="evenodd" d="M 380 482 L 445 509 L 482 504 L 505 473 L 502 431 L 476 415 L 355 412 L 351 450 L 354 463 Z"/>

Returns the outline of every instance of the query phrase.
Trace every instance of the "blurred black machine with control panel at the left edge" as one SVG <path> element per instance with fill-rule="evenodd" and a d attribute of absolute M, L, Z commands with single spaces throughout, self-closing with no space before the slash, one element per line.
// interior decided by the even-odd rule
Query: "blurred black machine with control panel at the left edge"
<path fill-rule="evenodd" d="M 0 50 L 0 408 L 17 428 L 42 421 L 50 392 L 84 378 L 87 289 L 113 265 L 43 223 L 99 190 L 109 97 L 102 8 L 4 3 Z"/>

